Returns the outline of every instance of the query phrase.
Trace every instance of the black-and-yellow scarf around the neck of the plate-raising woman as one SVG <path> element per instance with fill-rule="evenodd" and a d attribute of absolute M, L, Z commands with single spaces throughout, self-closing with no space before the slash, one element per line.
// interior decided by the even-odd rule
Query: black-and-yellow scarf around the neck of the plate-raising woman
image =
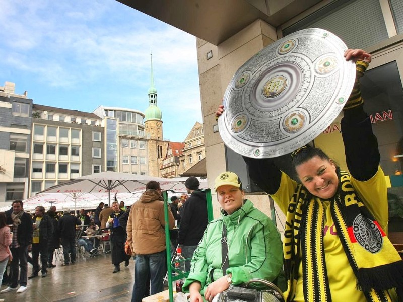
<path fill-rule="evenodd" d="M 357 287 L 368 301 L 390 301 L 386 291 L 392 288 L 402 300 L 403 261 L 356 195 L 350 175 L 339 169 L 338 174 L 339 189 L 330 210 Z M 331 301 L 323 247 L 325 208 L 312 198 L 298 185 L 288 206 L 283 245 L 288 301 L 295 295 L 300 261 L 305 300 Z"/>

